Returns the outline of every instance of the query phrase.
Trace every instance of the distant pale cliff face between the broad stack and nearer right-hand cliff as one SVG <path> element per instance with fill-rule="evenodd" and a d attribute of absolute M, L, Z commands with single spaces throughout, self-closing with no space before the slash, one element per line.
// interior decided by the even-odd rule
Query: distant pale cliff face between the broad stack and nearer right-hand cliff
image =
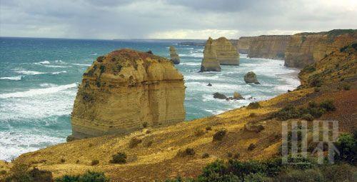
<path fill-rule="evenodd" d="M 250 41 L 249 58 L 284 59 L 291 36 L 256 36 Z"/>

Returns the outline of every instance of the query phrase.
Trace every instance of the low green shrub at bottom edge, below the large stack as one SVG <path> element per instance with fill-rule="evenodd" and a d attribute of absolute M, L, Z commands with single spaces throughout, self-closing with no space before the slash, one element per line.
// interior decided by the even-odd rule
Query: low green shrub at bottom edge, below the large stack
<path fill-rule="evenodd" d="M 109 178 L 106 178 L 104 173 L 87 171 L 82 175 L 77 176 L 62 176 L 56 178 L 55 182 L 107 182 Z"/>

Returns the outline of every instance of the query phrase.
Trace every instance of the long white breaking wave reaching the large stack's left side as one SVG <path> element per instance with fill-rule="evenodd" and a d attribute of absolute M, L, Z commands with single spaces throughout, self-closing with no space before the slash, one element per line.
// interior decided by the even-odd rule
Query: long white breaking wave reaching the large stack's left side
<path fill-rule="evenodd" d="M 50 93 L 56 93 L 58 91 L 63 91 L 66 89 L 71 89 L 76 86 L 77 84 L 74 83 L 68 85 L 49 87 L 46 89 L 29 89 L 28 91 L 19 91 L 14 93 L 1 93 L 0 98 L 23 98 L 23 97 L 42 95 L 42 94 L 50 94 Z"/>

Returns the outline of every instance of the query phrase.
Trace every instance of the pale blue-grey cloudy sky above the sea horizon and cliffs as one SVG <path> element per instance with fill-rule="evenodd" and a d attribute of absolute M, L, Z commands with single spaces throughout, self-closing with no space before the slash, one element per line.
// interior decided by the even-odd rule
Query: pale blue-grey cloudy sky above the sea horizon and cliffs
<path fill-rule="evenodd" d="M 357 0 L 0 0 L 0 36 L 214 39 L 357 29 Z"/>

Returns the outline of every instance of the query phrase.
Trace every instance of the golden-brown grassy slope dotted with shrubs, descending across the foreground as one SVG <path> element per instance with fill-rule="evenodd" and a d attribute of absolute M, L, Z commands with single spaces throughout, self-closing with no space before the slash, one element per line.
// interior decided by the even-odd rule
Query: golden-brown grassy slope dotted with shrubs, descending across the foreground
<path fill-rule="evenodd" d="M 300 111 L 311 106 L 311 101 L 321 103 L 326 99 L 333 101 L 336 108 L 321 113 L 319 120 L 338 121 L 341 133 L 353 132 L 357 128 L 356 49 L 357 45 L 352 44 L 328 54 L 311 64 L 311 68 L 301 71 L 298 89 L 256 103 L 255 108 L 236 108 L 162 128 L 148 126 L 126 136 L 100 136 L 62 143 L 24 153 L 13 163 L 51 171 L 54 177 L 86 171 L 103 171 L 113 181 L 196 177 L 208 163 L 232 159 L 228 153 L 238 153 L 241 161 L 280 156 L 281 123 L 301 121 L 301 118 L 281 121 L 275 117 L 276 113 L 291 108 L 287 106 Z M 318 86 L 311 84 L 316 83 L 315 79 L 319 79 Z M 218 138 L 217 133 L 221 137 Z M 188 155 L 183 156 L 182 151 L 188 151 Z M 126 163 L 111 163 L 112 156 L 118 152 L 126 153 Z"/>

